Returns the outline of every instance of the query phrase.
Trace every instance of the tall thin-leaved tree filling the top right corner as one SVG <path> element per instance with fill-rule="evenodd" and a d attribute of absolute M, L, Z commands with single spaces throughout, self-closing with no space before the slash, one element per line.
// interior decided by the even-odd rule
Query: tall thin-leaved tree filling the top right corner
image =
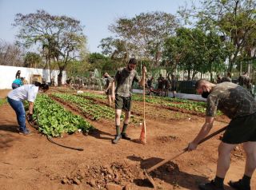
<path fill-rule="evenodd" d="M 216 28 L 230 47 L 229 62 L 231 70 L 238 57 L 255 47 L 256 35 L 256 1 L 255 0 L 204 0 L 200 1 L 200 8 L 181 11 L 183 18 L 193 16 L 198 18 L 197 24 L 204 30 Z M 232 45 L 232 46 L 230 46 Z"/>

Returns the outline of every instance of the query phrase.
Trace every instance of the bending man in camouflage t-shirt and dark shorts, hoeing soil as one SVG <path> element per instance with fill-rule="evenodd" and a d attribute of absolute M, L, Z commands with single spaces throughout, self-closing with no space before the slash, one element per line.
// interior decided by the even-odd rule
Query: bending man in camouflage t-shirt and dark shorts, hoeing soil
<path fill-rule="evenodd" d="M 218 146 L 218 164 L 214 180 L 200 184 L 202 190 L 223 190 L 223 180 L 230 167 L 230 152 L 243 144 L 246 152 L 246 167 L 241 180 L 230 181 L 231 187 L 239 190 L 250 190 L 250 178 L 256 168 L 256 101 L 254 97 L 240 85 L 231 82 L 213 84 L 199 80 L 195 84 L 198 93 L 207 98 L 206 121 L 194 141 L 188 144 L 188 150 L 194 150 L 210 132 L 217 109 L 221 110 L 231 121 Z"/>

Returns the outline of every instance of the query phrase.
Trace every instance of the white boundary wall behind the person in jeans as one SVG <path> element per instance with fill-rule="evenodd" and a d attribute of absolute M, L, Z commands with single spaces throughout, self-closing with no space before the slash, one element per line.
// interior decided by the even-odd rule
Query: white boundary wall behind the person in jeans
<path fill-rule="evenodd" d="M 15 75 L 18 70 L 21 70 L 21 77 L 25 77 L 30 82 L 30 77 L 33 74 L 41 75 L 46 79 L 46 82 L 50 82 L 50 70 L 49 69 L 34 69 L 26 67 L 6 66 L 0 65 L 0 89 L 11 89 L 11 84 L 15 80 Z M 54 84 L 58 84 L 58 70 L 52 70 L 51 76 L 54 77 Z M 66 83 L 66 71 L 62 72 L 62 84 Z"/>

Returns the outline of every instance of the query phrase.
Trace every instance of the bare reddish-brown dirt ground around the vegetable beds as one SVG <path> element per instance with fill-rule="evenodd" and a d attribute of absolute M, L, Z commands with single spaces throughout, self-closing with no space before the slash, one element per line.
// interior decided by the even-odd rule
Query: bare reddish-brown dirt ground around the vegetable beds
<path fill-rule="evenodd" d="M 7 92 L 0 91 L 0 97 L 5 97 Z M 141 115 L 142 102 L 134 102 L 133 106 L 134 112 Z M 118 144 L 111 144 L 115 134 L 114 121 L 90 121 L 97 128 L 94 133 L 54 138 L 58 143 L 84 148 L 79 152 L 51 144 L 30 125 L 27 126 L 33 131 L 31 136 L 19 135 L 14 110 L 8 104 L 2 105 L 1 189 L 152 189 L 142 169 L 178 154 L 193 140 L 204 118 L 147 106 L 147 144 L 136 141 L 141 132 L 137 125 L 127 129 L 133 141 L 121 140 Z M 225 125 L 225 122 L 216 121 L 213 131 Z M 156 189 L 198 189 L 199 183 L 213 179 L 219 137 L 213 137 L 194 152 L 186 152 L 150 172 L 157 184 Z M 242 177 L 244 165 L 245 154 L 239 146 L 232 152 L 225 184 Z M 252 189 L 256 189 L 255 174 L 252 184 Z M 225 188 L 231 189 L 228 185 Z"/>

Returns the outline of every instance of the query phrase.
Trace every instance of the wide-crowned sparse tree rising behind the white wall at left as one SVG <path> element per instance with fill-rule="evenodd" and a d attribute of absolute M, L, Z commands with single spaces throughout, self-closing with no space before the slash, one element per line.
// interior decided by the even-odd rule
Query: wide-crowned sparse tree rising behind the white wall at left
<path fill-rule="evenodd" d="M 62 71 L 81 51 L 85 51 L 86 37 L 78 20 L 66 16 L 54 16 L 44 10 L 34 14 L 16 14 L 14 26 L 19 27 L 19 44 L 25 47 L 39 45 L 45 50 L 46 60 L 58 64 L 58 85 Z"/>

